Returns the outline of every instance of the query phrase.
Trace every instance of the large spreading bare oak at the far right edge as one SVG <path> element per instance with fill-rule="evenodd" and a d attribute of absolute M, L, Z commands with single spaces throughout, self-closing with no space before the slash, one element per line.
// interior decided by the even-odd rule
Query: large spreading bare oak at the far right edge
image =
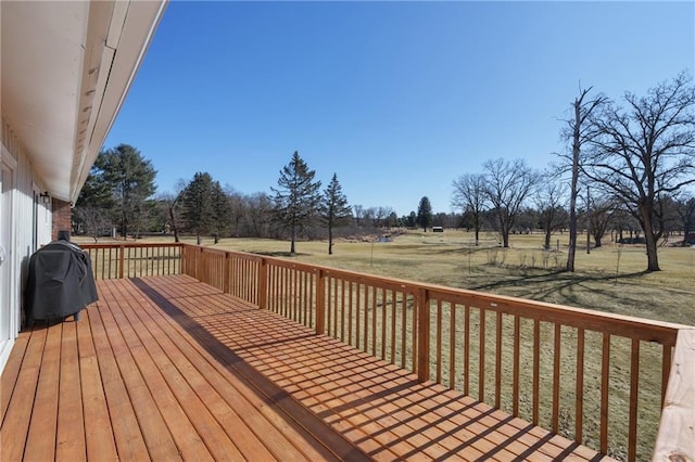
<path fill-rule="evenodd" d="M 637 219 L 647 271 L 659 271 L 657 243 L 665 231 L 662 201 L 695 183 L 695 88 L 681 74 L 648 90 L 626 93 L 627 107 L 602 107 L 582 171 Z"/>

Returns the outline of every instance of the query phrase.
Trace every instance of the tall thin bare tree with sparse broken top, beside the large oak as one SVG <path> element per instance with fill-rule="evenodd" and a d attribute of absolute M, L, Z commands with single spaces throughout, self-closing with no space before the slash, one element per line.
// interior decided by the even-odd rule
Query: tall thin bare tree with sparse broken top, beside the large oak
<path fill-rule="evenodd" d="M 571 103 L 573 117 L 566 120 L 563 136 L 572 142 L 570 156 L 565 156 L 567 161 L 565 167 L 569 167 L 571 172 L 569 190 L 569 249 L 567 252 L 567 271 L 574 271 L 574 254 L 577 253 L 577 197 L 579 196 L 579 174 L 581 171 L 582 147 L 597 134 L 596 127 L 592 124 L 591 116 L 602 106 L 608 103 L 608 99 L 602 94 L 589 99 L 589 93 L 593 87 L 584 90 L 579 88 L 579 97 Z"/>

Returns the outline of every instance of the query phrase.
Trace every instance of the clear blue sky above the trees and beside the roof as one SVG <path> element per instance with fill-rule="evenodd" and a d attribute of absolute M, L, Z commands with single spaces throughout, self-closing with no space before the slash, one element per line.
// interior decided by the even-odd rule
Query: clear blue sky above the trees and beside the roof
<path fill-rule="evenodd" d="M 207 171 L 270 192 L 294 151 L 351 204 L 451 211 L 486 159 L 542 169 L 582 87 L 695 70 L 695 2 L 172 1 L 104 143 L 157 192 Z"/>

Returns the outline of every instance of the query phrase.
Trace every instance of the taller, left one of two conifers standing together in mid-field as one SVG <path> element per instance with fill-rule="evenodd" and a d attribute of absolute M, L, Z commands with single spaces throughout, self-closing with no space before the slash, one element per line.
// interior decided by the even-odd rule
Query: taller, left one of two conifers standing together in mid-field
<path fill-rule="evenodd" d="M 295 253 L 296 234 L 309 223 L 320 203 L 320 181 L 314 181 L 316 171 L 294 151 L 292 159 L 280 170 L 278 188 L 270 188 L 275 194 L 274 219 L 290 231 L 290 253 Z"/>

